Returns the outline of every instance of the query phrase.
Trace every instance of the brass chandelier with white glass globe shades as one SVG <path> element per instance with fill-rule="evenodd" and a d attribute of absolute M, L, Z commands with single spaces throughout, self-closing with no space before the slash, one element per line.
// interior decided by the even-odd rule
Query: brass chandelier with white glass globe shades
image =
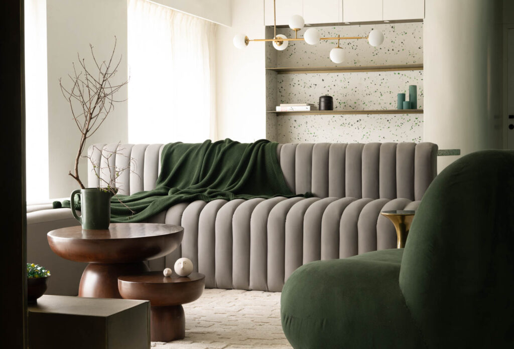
<path fill-rule="evenodd" d="M 305 25 L 303 17 L 300 15 L 293 15 L 289 18 L 289 28 L 295 31 L 295 37 L 288 38 L 284 34 L 277 35 L 277 15 L 275 0 L 273 0 L 273 38 L 272 39 L 250 39 L 244 34 L 237 34 L 234 36 L 233 43 L 237 48 L 245 48 L 250 41 L 271 41 L 273 47 L 279 51 L 285 50 L 290 41 L 305 41 L 309 45 L 316 45 L 320 40 L 337 40 L 337 46 L 330 51 L 330 59 L 334 63 L 342 63 L 344 61 L 344 50 L 339 46 L 340 40 L 359 40 L 367 39 L 371 46 L 380 46 L 384 41 L 382 32 L 373 29 L 368 36 L 335 36 L 335 37 L 320 37 L 320 33 L 316 28 L 309 28 L 305 31 L 303 37 L 298 37 L 298 31 Z"/>

